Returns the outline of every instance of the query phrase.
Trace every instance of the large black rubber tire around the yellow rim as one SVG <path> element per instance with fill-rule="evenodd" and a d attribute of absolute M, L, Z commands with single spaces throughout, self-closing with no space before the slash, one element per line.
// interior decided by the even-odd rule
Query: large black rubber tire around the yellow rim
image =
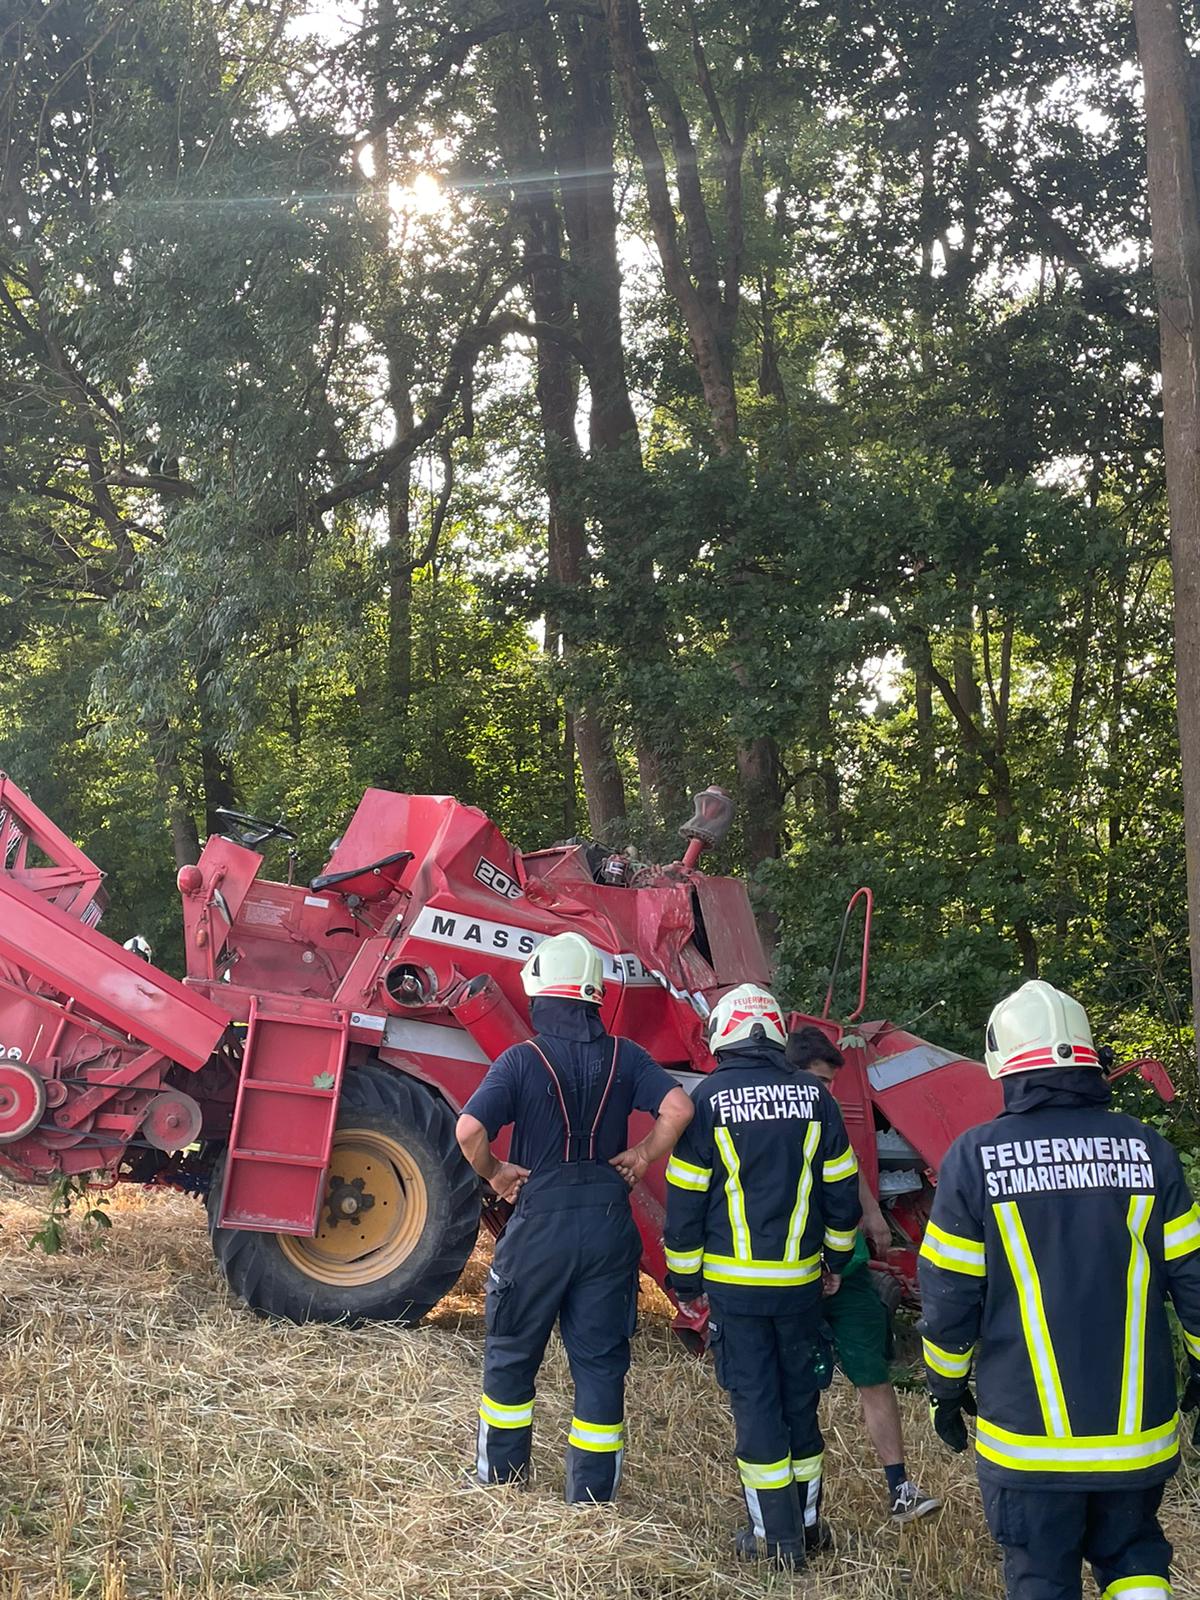
<path fill-rule="evenodd" d="M 224 1155 L 208 1192 L 213 1254 L 237 1298 L 259 1317 L 286 1322 L 419 1322 L 458 1283 L 475 1248 L 480 1184 L 454 1139 L 454 1115 L 419 1083 L 379 1064 L 342 1080 L 338 1126 L 374 1128 L 405 1146 L 429 1192 L 429 1221 L 413 1250 L 374 1283 L 344 1286 L 310 1278 L 283 1254 L 278 1234 L 218 1227 Z"/>

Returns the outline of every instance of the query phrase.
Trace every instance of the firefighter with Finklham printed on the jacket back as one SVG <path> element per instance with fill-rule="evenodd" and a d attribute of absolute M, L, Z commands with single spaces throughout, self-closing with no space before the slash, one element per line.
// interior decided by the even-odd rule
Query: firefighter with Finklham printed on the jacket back
<path fill-rule="evenodd" d="M 795 1072 L 776 1000 L 754 984 L 709 1019 L 717 1070 L 667 1166 L 669 1282 L 709 1302 L 750 1525 L 738 1554 L 800 1566 L 827 1542 L 818 1424 L 829 1354 L 821 1272 L 843 1272 L 862 1214 L 858 1162 L 829 1090 Z"/>

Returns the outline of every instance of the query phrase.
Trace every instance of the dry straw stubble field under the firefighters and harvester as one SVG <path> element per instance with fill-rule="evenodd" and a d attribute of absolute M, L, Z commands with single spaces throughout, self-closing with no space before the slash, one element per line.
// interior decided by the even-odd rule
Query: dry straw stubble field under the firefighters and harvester
<path fill-rule="evenodd" d="M 0 1600 L 584 1600 L 1000 1594 L 970 1466 L 906 1397 L 910 1462 L 946 1494 L 886 1525 L 853 1394 L 826 1398 L 837 1550 L 797 1579 L 738 1566 L 730 1427 L 710 1368 L 648 1298 L 616 1509 L 560 1504 L 562 1350 L 531 1493 L 483 1491 L 472 1454 L 480 1278 L 413 1331 L 283 1328 L 232 1306 L 200 1206 L 133 1194 L 101 1250 L 27 1250 L 37 1198 L 0 1187 Z M 1200 1597 L 1200 1475 L 1176 1480 L 1176 1594 Z"/>

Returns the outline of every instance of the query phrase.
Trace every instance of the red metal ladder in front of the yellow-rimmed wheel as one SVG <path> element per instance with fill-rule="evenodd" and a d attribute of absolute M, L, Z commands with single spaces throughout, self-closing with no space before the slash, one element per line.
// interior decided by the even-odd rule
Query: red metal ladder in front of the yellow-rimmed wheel
<path fill-rule="evenodd" d="M 317 1229 L 338 1122 L 349 1016 L 266 1014 L 250 1003 L 221 1187 L 221 1227 Z"/>

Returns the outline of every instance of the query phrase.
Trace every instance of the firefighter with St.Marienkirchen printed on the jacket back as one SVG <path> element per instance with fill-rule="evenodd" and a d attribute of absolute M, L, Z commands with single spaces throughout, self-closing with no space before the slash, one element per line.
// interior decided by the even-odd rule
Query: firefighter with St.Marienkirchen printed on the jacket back
<path fill-rule="evenodd" d="M 1010 1600 L 1166 1600 L 1158 1525 L 1179 1462 L 1166 1299 L 1200 1402 L 1200 1211 L 1173 1147 L 1109 1107 L 1077 1000 L 1027 982 L 992 1011 L 1005 1110 L 962 1134 L 938 1181 L 920 1282 L 933 1421 L 974 1413 L 984 1514 Z"/>

